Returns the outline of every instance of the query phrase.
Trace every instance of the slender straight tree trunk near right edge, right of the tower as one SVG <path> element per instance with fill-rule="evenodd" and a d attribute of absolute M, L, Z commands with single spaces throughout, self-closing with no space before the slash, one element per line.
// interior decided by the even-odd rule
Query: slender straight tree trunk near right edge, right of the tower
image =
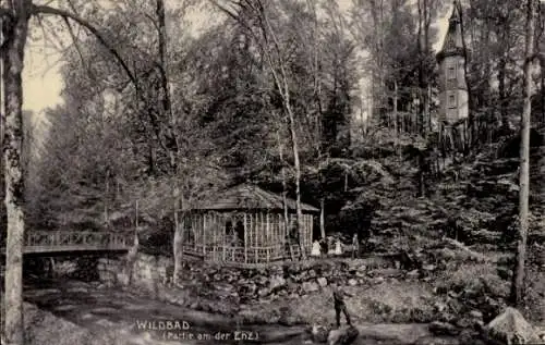
<path fill-rule="evenodd" d="M 525 62 L 524 62 L 524 109 L 521 119 L 521 145 L 520 145 L 520 192 L 519 192 L 519 234 L 517 238 L 517 260 L 514 267 L 513 281 L 511 285 L 511 303 L 519 307 L 522 303 L 524 292 L 524 270 L 526 256 L 526 234 L 528 234 L 528 213 L 530 195 L 530 115 L 532 111 L 531 103 L 531 69 L 532 56 L 534 51 L 534 32 L 535 32 L 535 2 L 528 0 L 526 17 L 526 42 L 525 42 Z"/>

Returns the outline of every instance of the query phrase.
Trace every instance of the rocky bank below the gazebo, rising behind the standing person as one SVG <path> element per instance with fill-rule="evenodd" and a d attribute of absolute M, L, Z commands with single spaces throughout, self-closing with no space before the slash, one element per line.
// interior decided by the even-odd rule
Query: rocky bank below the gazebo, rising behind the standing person
<path fill-rule="evenodd" d="M 444 256 L 448 251 L 441 248 Z M 452 254 L 452 252 L 451 252 Z M 194 310 L 239 317 L 251 323 L 287 325 L 334 320 L 331 282 L 358 296 L 349 298 L 354 318 L 366 323 L 458 322 L 479 311 L 488 322 L 504 307 L 508 282 L 489 262 L 426 263 L 403 270 L 395 257 L 290 262 L 263 270 L 239 270 L 192 262 L 180 285 L 168 280 L 170 261 L 140 255 L 131 280 L 122 261 L 100 259 L 101 287 L 121 284 L 140 295 Z M 450 256 L 452 258 L 452 256 Z M 463 259 L 463 258 L 462 258 Z M 463 262 L 463 260 L 460 260 Z M 459 321 L 461 325 L 467 321 Z"/>

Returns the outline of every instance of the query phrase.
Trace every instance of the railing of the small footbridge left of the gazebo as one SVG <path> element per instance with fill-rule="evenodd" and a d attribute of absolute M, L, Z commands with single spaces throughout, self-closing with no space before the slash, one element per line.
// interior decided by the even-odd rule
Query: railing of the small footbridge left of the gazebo
<path fill-rule="evenodd" d="M 25 247 L 95 247 L 123 249 L 131 245 L 130 235 L 111 232 L 29 231 L 25 234 Z"/>

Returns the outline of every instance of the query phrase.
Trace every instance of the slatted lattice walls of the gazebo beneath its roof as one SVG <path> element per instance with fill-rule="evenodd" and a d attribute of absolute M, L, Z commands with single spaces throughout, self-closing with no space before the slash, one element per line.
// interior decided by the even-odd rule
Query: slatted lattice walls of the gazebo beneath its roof
<path fill-rule="evenodd" d="M 289 214 L 294 224 L 296 215 Z M 233 266 L 259 266 L 300 255 L 286 233 L 284 215 L 269 211 L 191 212 L 183 221 L 183 252 Z M 289 227 L 288 227 L 289 229 Z M 313 214 L 304 213 L 299 236 L 306 256 L 312 249 Z"/>

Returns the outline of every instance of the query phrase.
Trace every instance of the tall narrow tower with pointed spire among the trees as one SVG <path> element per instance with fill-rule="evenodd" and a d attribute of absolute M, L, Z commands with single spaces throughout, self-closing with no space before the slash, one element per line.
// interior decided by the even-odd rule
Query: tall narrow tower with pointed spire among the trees
<path fill-rule="evenodd" d="M 465 83 L 465 46 L 462 33 L 461 5 L 455 0 L 447 35 L 437 53 L 439 63 L 439 122 L 451 124 L 468 118 L 469 97 Z"/>

